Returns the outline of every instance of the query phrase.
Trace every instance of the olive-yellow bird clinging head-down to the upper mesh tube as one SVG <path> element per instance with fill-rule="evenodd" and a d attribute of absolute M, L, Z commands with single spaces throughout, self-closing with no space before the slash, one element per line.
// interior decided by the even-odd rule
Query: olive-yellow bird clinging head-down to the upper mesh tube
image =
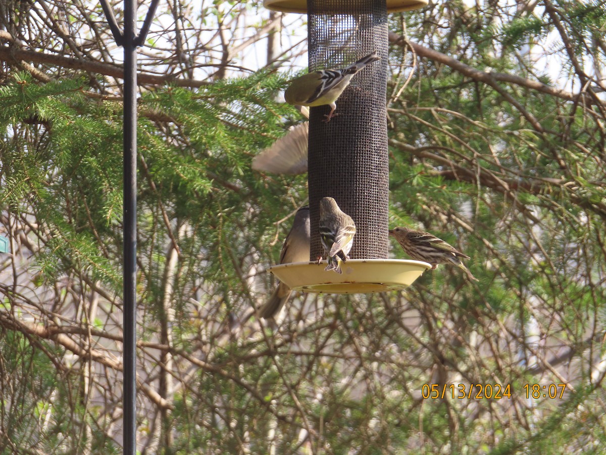
<path fill-rule="evenodd" d="M 379 59 L 376 52 L 370 53 L 344 69 L 322 70 L 296 78 L 286 92 L 284 99 L 288 104 L 302 106 L 330 106 L 325 122 L 333 118 L 337 107 L 335 101 L 351 82 L 351 78 L 362 68 Z"/>

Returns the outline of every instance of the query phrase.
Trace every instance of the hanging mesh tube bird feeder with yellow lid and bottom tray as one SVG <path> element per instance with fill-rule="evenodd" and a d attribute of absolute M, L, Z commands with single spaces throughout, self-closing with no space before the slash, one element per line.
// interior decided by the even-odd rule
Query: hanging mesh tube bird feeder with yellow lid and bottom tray
<path fill-rule="evenodd" d="M 387 258 L 387 13 L 424 5 L 427 0 L 265 0 L 273 10 L 308 14 L 310 72 L 344 68 L 372 52 L 380 58 L 353 77 L 330 122 L 325 121 L 330 107 L 311 108 L 310 262 L 270 268 L 292 289 L 334 294 L 404 289 L 430 268 L 421 261 Z M 351 259 L 343 263 L 342 274 L 314 261 L 325 255 L 318 221 L 319 201 L 326 196 L 335 198 L 356 224 Z"/>

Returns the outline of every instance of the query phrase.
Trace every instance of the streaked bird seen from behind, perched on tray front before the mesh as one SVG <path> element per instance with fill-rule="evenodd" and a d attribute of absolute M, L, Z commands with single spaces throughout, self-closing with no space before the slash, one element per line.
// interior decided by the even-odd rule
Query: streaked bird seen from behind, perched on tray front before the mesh
<path fill-rule="evenodd" d="M 325 197 L 320 200 L 318 230 L 322 246 L 328 256 L 328 265 L 324 270 L 343 273 L 341 262 L 349 259 L 353 236 L 356 235 L 356 225 L 349 215 L 339 209 L 333 198 Z"/>

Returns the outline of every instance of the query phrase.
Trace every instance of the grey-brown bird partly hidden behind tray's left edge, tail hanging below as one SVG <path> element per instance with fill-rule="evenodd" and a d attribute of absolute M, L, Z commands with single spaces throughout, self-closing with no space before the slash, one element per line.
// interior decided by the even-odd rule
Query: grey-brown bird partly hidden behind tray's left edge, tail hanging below
<path fill-rule="evenodd" d="M 309 228 L 309 206 L 301 207 L 293 221 L 293 226 L 284 240 L 280 263 L 307 262 L 310 254 L 310 228 Z M 271 293 L 270 298 L 259 309 L 259 316 L 264 319 L 278 314 L 284 303 L 290 296 L 291 289 L 284 283 L 278 281 L 278 286 Z"/>

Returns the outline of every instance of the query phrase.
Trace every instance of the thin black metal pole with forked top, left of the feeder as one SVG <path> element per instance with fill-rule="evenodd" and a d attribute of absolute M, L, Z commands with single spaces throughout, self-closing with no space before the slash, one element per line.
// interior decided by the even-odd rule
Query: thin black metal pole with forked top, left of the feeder
<path fill-rule="evenodd" d="M 151 19 L 159 0 L 152 0 L 141 35 L 136 35 L 136 0 L 124 0 L 124 32 L 108 0 L 101 6 L 110 25 L 116 44 L 124 47 L 124 265 L 122 295 L 124 356 L 124 435 L 123 450 L 127 455 L 136 453 L 136 328 L 137 328 L 137 53 L 136 48 L 145 41 Z"/>

